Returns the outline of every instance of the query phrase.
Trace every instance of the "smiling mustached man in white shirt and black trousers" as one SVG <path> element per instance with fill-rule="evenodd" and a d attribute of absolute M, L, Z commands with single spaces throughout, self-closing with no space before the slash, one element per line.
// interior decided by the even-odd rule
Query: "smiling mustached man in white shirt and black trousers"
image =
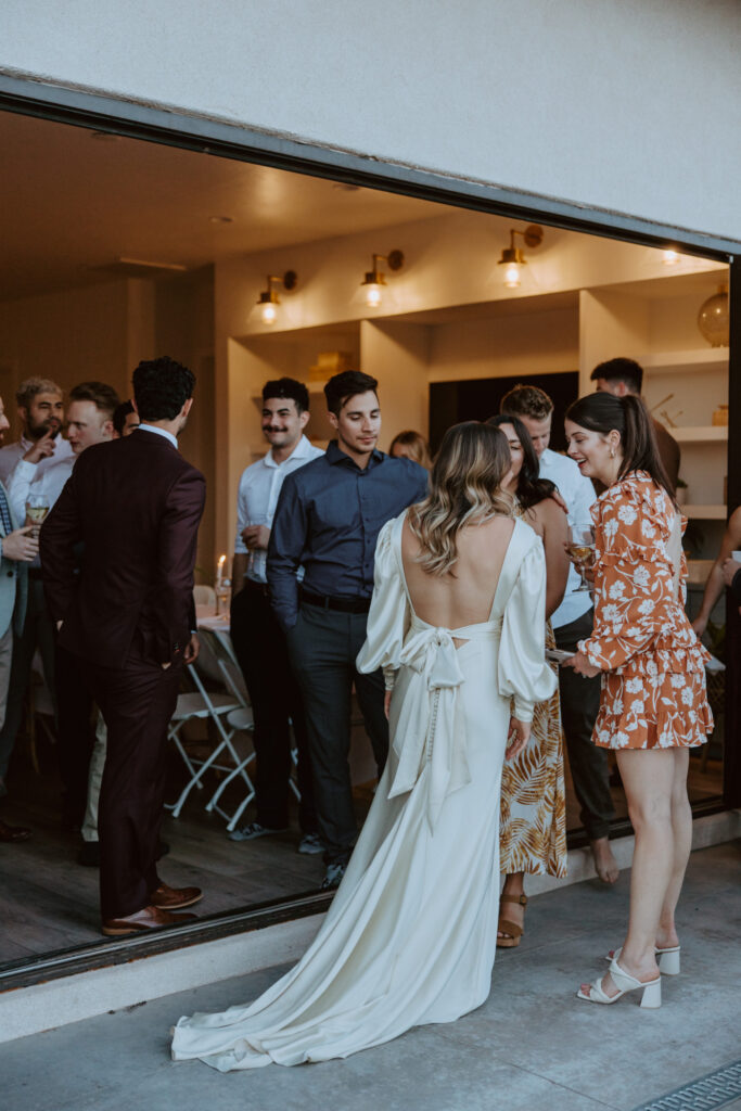
<path fill-rule="evenodd" d="M 301 693 L 286 637 L 270 605 L 266 574 L 268 540 L 283 479 L 323 454 L 303 434 L 308 421 L 309 393 L 302 382 L 292 378 L 266 382 L 262 433 L 270 450 L 247 468 L 239 482 L 231 602 L 231 639 L 254 714 L 257 818 L 230 837 L 232 841 L 251 841 L 288 827 L 290 719 L 301 793 L 299 852 L 319 853 L 322 845 L 317 833 Z"/>

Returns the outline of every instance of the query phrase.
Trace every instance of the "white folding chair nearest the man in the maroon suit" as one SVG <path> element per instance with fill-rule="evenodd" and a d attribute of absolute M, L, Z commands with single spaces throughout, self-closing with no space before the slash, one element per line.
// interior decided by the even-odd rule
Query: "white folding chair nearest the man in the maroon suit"
<path fill-rule="evenodd" d="M 203 670 L 207 673 L 209 671 L 213 673 L 213 661 L 208 661 L 209 644 L 207 638 L 201 638 L 201 653 L 206 654 L 202 664 Z M 243 721 L 242 700 L 236 697 L 231 689 L 223 693 L 208 691 L 199 674 L 199 662 L 200 657 L 196 664 L 189 664 L 188 667 L 188 674 L 194 690 L 178 697 L 176 711 L 168 729 L 168 738 L 178 749 L 190 777 L 180 792 L 178 800 L 167 807 L 168 810 L 172 811 L 173 818 L 179 817 L 188 795 L 194 787 L 199 791 L 203 789 L 202 780 L 208 771 L 226 772 L 229 782 L 237 777 L 241 778 L 247 788 L 248 802 L 254 797 L 254 788 L 246 770 L 250 761 L 254 758 L 254 753 L 252 752 L 247 759 L 243 759 L 234 745 L 234 734 L 244 728 L 241 724 Z M 210 667 L 208 665 L 209 662 L 211 662 Z M 219 673 L 221 673 L 221 669 L 219 669 Z M 240 717 L 236 717 L 237 714 Z M 190 755 L 183 744 L 181 735 L 183 727 L 187 722 L 196 720 L 210 721 L 219 738 L 206 759 Z M 221 794 L 223 785 L 222 783 L 217 789 L 216 799 Z M 216 799 L 212 797 L 209 800 L 207 810 L 216 810 L 229 820 L 230 814 L 216 804 Z"/>

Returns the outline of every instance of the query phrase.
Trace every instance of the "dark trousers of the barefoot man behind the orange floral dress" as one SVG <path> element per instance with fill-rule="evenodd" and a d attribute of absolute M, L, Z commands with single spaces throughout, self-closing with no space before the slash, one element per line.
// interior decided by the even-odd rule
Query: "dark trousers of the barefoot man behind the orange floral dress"
<path fill-rule="evenodd" d="M 592 631 L 594 611 L 588 610 L 568 625 L 554 629 L 557 648 L 575 652 L 577 641 Z M 600 709 L 600 675 L 584 679 L 572 668 L 559 668 L 561 722 L 569 753 L 573 789 L 581 807 L 581 823 L 590 840 L 607 837 L 614 808 L 610 794 L 608 755 L 592 743 L 594 720 Z"/>

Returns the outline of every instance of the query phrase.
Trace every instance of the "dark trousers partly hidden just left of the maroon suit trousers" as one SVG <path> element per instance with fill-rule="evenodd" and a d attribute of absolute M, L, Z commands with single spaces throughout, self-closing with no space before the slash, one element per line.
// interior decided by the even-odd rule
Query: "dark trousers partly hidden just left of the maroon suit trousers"
<path fill-rule="evenodd" d="M 57 753 L 64 784 L 64 810 L 81 825 L 88 802 L 90 757 L 96 743 L 91 724 L 94 699 L 80 659 L 57 644 L 54 659 L 57 694 Z"/>

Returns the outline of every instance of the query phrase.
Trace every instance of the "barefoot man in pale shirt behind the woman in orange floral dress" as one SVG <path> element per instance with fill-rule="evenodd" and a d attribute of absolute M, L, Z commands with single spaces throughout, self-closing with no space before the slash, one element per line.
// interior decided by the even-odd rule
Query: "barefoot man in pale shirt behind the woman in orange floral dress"
<path fill-rule="evenodd" d="M 537 386 L 515 386 L 505 393 L 500 412 L 523 422 L 540 462 L 540 477 L 555 483 L 567 503 L 569 524 L 591 524 L 594 488 L 568 456 L 549 448 L 553 402 Z M 574 568 L 563 601 L 551 617 L 557 647 L 575 651 L 577 641 L 589 637 L 594 621 L 591 595 L 580 591 Z M 592 729 L 600 708 L 600 677 L 584 679 L 571 668 L 559 669 L 561 721 L 569 753 L 569 768 L 581 807 L 581 821 L 589 838 L 594 867 L 604 883 L 618 879 L 618 864 L 610 848 L 610 821 L 614 817 L 607 753 L 592 743 Z"/>

